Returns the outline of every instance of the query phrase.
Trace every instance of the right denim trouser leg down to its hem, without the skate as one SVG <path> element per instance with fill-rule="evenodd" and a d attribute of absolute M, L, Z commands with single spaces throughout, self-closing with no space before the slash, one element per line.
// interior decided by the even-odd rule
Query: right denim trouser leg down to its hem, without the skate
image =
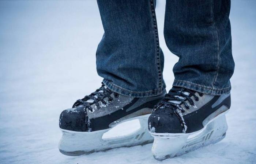
<path fill-rule="evenodd" d="M 220 95 L 234 72 L 230 0 L 167 0 L 164 35 L 179 57 L 173 86 Z"/>

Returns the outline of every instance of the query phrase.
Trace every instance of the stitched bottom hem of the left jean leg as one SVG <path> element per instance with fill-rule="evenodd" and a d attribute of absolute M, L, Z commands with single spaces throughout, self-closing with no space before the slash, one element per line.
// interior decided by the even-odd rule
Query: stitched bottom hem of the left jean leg
<path fill-rule="evenodd" d="M 148 90 L 148 91 L 131 91 L 124 89 L 123 87 L 117 86 L 113 82 L 103 79 L 103 84 L 106 85 L 110 90 L 122 94 L 127 95 L 131 97 L 152 97 L 161 94 L 163 91 L 165 91 L 166 85 L 165 82 L 163 82 L 162 88 L 155 89 L 155 90 Z"/>

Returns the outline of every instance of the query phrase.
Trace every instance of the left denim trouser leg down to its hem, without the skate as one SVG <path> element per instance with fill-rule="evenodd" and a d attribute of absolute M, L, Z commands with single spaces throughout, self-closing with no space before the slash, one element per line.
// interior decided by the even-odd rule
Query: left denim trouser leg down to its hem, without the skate
<path fill-rule="evenodd" d="M 104 35 L 97 72 L 109 89 L 133 97 L 165 90 L 154 0 L 97 0 Z"/>

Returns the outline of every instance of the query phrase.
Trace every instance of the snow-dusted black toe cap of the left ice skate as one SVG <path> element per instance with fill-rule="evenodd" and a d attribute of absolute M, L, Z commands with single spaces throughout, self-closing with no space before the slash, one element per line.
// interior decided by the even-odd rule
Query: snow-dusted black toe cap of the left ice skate
<path fill-rule="evenodd" d="M 86 132 L 86 117 L 83 107 L 66 109 L 60 114 L 59 126 L 61 129 Z"/>

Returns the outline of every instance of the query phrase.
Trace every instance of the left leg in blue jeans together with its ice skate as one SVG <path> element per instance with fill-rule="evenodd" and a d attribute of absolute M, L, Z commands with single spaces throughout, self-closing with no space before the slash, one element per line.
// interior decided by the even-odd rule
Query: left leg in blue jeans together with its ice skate
<path fill-rule="evenodd" d="M 98 6 L 105 34 L 97 49 L 97 71 L 104 79 L 99 89 L 60 114 L 59 150 L 65 155 L 153 142 L 148 116 L 166 94 L 153 0 L 98 0 Z M 135 132 L 102 138 L 132 119 L 140 122 Z"/>

